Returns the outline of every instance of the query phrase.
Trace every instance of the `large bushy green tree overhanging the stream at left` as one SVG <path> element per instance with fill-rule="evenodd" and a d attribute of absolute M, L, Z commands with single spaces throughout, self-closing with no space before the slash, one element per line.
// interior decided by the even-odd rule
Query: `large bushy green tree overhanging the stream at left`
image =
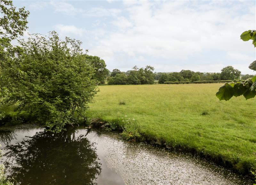
<path fill-rule="evenodd" d="M 94 69 L 85 61 L 81 42 L 68 37 L 61 41 L 50 32 L 48 39 L 34 34 L 20 44 L 0 65 L 0 90 L 7 89 L 1 103 L 18 104 L 31 121 L 54 131 L 78 122 L 97 92 Z"/>

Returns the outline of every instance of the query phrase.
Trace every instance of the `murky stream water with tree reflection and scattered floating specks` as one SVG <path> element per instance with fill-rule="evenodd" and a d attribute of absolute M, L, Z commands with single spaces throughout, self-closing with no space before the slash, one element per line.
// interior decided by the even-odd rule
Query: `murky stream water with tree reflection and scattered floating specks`
<path fill-rule="evenodd" d="M 17 184 L 252 184 L 196 156 L 146 143 L 129 143 L 118 133 L 69 128 L 0 131 L 0 163 Z"/>

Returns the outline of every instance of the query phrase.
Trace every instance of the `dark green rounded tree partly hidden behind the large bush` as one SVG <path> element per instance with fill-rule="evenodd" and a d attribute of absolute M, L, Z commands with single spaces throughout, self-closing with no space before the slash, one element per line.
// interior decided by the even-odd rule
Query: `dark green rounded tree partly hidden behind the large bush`
<path fill-rule="evenodd" d="M 92 79 L 96 79 L 101 84 L 104 84 L 109 72 L 109 70 L 106 68 L 107 65 L 105 61 L 100 59 L 99 56 L 84 55 L 84 57 L 87 62 L 92 64 L 95 70 Z"/>

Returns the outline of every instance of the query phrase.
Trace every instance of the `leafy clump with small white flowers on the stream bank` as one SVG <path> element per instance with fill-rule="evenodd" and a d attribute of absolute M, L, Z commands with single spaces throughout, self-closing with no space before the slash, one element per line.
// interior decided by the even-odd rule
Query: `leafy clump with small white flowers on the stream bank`
<path fill-rule="evenodd" d="M 123 129 L 123 132 L 121 133 L 121 136 L 128 141 L 135 142 L 140 135 L 140 129 L 138 124 L 135 122 L 135 119 L 127 118 L 127 115 L 124 116 L 125 118 L 122 118 L 122 124 L 121 127 Z"/>

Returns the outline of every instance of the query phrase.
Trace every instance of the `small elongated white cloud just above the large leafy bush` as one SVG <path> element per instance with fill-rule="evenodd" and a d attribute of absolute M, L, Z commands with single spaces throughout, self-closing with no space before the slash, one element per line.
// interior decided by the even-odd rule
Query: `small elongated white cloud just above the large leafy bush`
<path fill-rule="evenodd" d="M 77 28 L 76 26 L 68 26 L 68 25 L 55 25 L 54 29 L 60 32 L 60 34 L 74 34 L 82 36 L 84 33 L 86 33 L 86 30 L 84 28 Z"/>

